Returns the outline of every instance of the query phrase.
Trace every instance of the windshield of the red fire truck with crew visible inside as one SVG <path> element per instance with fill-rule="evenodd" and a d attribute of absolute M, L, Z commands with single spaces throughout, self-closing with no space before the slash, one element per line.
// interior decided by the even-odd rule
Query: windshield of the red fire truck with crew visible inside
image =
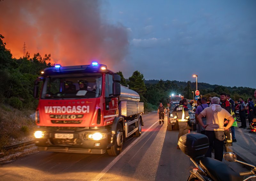
<path fill-rule="evenodd" d="M 98 98 L 102 90 L 99 73 L 45 77 L 42 99 Z"/>

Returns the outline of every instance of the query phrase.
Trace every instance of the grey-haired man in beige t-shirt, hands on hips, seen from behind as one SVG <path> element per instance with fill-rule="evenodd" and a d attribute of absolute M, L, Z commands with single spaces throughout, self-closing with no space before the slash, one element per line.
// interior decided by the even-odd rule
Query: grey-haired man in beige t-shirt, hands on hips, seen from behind
<path fill-rule="evenodd" d="M 232 115 L 223 109 L 220 105 L 220 98 L 213 97 L 212 105 L 206 107 L 197 116 L 199 124 L 205 129 L 205 135 L 209 139 L 209 148 L 204 155 L 205 157 L 212 157 L 212 148 L 214 144 L 214 159 L 222 161 L 223 159 L 223 143 L 224 130 L 230 128 L 235 121 Z M 206 125 L 204 125 L 202 118 L 207 117 Z M 224 126 L 224 119 L 228 119 L 228 125 Z"/>

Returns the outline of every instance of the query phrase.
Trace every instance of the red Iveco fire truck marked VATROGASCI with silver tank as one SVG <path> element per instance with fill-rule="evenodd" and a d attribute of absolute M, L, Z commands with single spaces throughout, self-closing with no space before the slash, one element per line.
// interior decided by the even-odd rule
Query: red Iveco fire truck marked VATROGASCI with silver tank
<path fill-rule="evenodd" d="M 38 149 L 118 155 L 125 139 L 140 136 L 144 126 L 139 94 L 120 81 L 97 62 L 44 69 L 34 86 Z"/>

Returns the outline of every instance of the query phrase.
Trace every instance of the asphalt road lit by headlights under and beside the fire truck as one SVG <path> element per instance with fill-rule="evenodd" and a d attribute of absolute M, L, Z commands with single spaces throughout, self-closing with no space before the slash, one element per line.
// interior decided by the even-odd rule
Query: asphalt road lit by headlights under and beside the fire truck
<path fill-rule="evenodd" d="M 2 165 L 0 180 L 187 180 L 195 166 L 176 149 L 178 131 L 167 130 L 166 118 L 159 125 L 156 112 L 143 121 L 141 136 L 124 143 L 119 156 L 41 151 Z M 238 163 L 231 167 L 246 170 Z"/>

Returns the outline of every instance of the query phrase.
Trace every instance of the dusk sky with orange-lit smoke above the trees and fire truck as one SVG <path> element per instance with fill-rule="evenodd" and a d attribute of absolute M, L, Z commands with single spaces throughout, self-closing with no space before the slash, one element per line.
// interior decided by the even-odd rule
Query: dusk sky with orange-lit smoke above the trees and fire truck
<path fill-rule="evenodd" d="M 2 0 L 0 34 L 13 57 L 62 65 L 98 60 L 125 78 L 256 88 L 256 1 Z"/>

